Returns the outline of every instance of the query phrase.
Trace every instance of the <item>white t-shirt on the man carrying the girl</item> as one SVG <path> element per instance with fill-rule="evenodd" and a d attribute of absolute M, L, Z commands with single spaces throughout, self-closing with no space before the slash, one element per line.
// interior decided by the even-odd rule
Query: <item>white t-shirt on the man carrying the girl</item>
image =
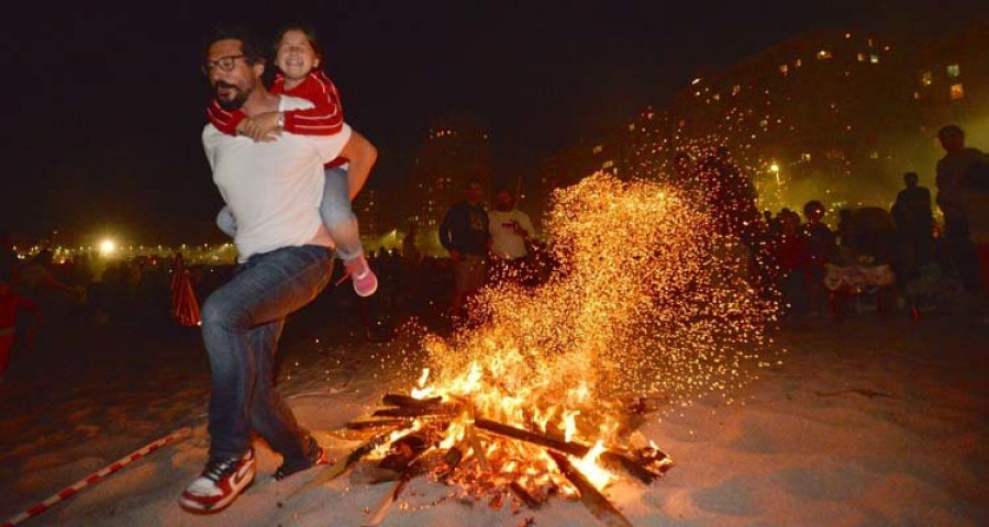
<path fill-rule="evenodd" d="M 313 108 L 305 99 L 281 96 L 278 111 Z M 323 229 L 323 164 L 340 156 L 351 138 L 346 124 L 334 135 L 282 132 L 256 143 L 207 124 L 202 145 L 213 182 L 237 222 L 237 261 L 251 255 L 313 243 Z"/>

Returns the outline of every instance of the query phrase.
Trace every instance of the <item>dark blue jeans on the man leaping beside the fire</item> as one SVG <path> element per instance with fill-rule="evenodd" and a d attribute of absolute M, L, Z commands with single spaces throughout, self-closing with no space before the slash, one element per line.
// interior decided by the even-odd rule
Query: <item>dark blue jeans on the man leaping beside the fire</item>
<path fill-rule="evenodd" d="M 330 282 L 326 247 L 284 247 L 253 255 L 202 307 L 210 358 L 210 456 L 237 457 L 256 431 L 289 467 L 305 467 L 316 448 L 275 390 L 275 351 L 285 317 Z"/>

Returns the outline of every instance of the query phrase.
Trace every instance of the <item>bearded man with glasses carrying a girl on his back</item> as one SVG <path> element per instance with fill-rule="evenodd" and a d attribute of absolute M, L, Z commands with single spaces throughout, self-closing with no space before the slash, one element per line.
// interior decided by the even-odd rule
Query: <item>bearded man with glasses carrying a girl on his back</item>
<path fill-rule="evenodd" d="M 310 108 L 265 89 L 259 47 L 243 29 L 216 32 L 203 71 L 226 110 L 248 116 Z M 237 221 L 237 273 L 205 301 L 203 343 L 212 371 L 209 460 L 179 503 L 197 513 L 229 506 L 253 481 L 252 431 L 284 458 L 280 479 L 323 461 L 274 388 L 275 350 L 285 317 L 312 301 L 332 273 L 332 238 L 320 218 L 323 164 L 374 147 L 343 125 L 332 136 L 281 133 L 275 141 L 203 130 L 213 182 Z"/>

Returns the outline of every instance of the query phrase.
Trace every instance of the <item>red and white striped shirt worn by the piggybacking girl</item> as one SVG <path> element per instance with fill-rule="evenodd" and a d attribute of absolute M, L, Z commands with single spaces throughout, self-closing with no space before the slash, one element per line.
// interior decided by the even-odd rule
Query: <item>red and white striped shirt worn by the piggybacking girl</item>
<path fill-rule="evenodd" d="M 336 86 L 321 70 L 313 69 L 305 80 L 291 90 L 285 89 L 285 77 L 275 77 L 271 92 L 305 99 L 313 103 L 308 110 L 292 110 L 285 112 L 286 132 L 299 135 L 335 135 L 343 128 L 343 104 L 340 101 L 340 92 Z M 210 123 L 220 132 L 227 135 L 237 134 L 237 125 L 246 115 L 241 110 L 224 110 L 213 99 L 207 108 L 207 116 Z M 344 158 L 336 158 L 326 164 L 326 168 L 338 167 L 347 162 Z"/>

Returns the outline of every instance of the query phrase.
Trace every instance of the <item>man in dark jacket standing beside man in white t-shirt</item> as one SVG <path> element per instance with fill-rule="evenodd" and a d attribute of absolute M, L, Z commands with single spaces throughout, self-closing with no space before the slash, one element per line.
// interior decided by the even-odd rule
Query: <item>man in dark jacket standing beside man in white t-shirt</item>
<path fill-rule="evenodd" d="M 464 300 L 485 285 L 488 278 L 488 211 L 481 204 L 481 186 L 467 182 L 465 200 L 446 213 L 440 225 L 440 243 L 449 251 L 454 271 L 454 317 L 464 315 Z"/>

